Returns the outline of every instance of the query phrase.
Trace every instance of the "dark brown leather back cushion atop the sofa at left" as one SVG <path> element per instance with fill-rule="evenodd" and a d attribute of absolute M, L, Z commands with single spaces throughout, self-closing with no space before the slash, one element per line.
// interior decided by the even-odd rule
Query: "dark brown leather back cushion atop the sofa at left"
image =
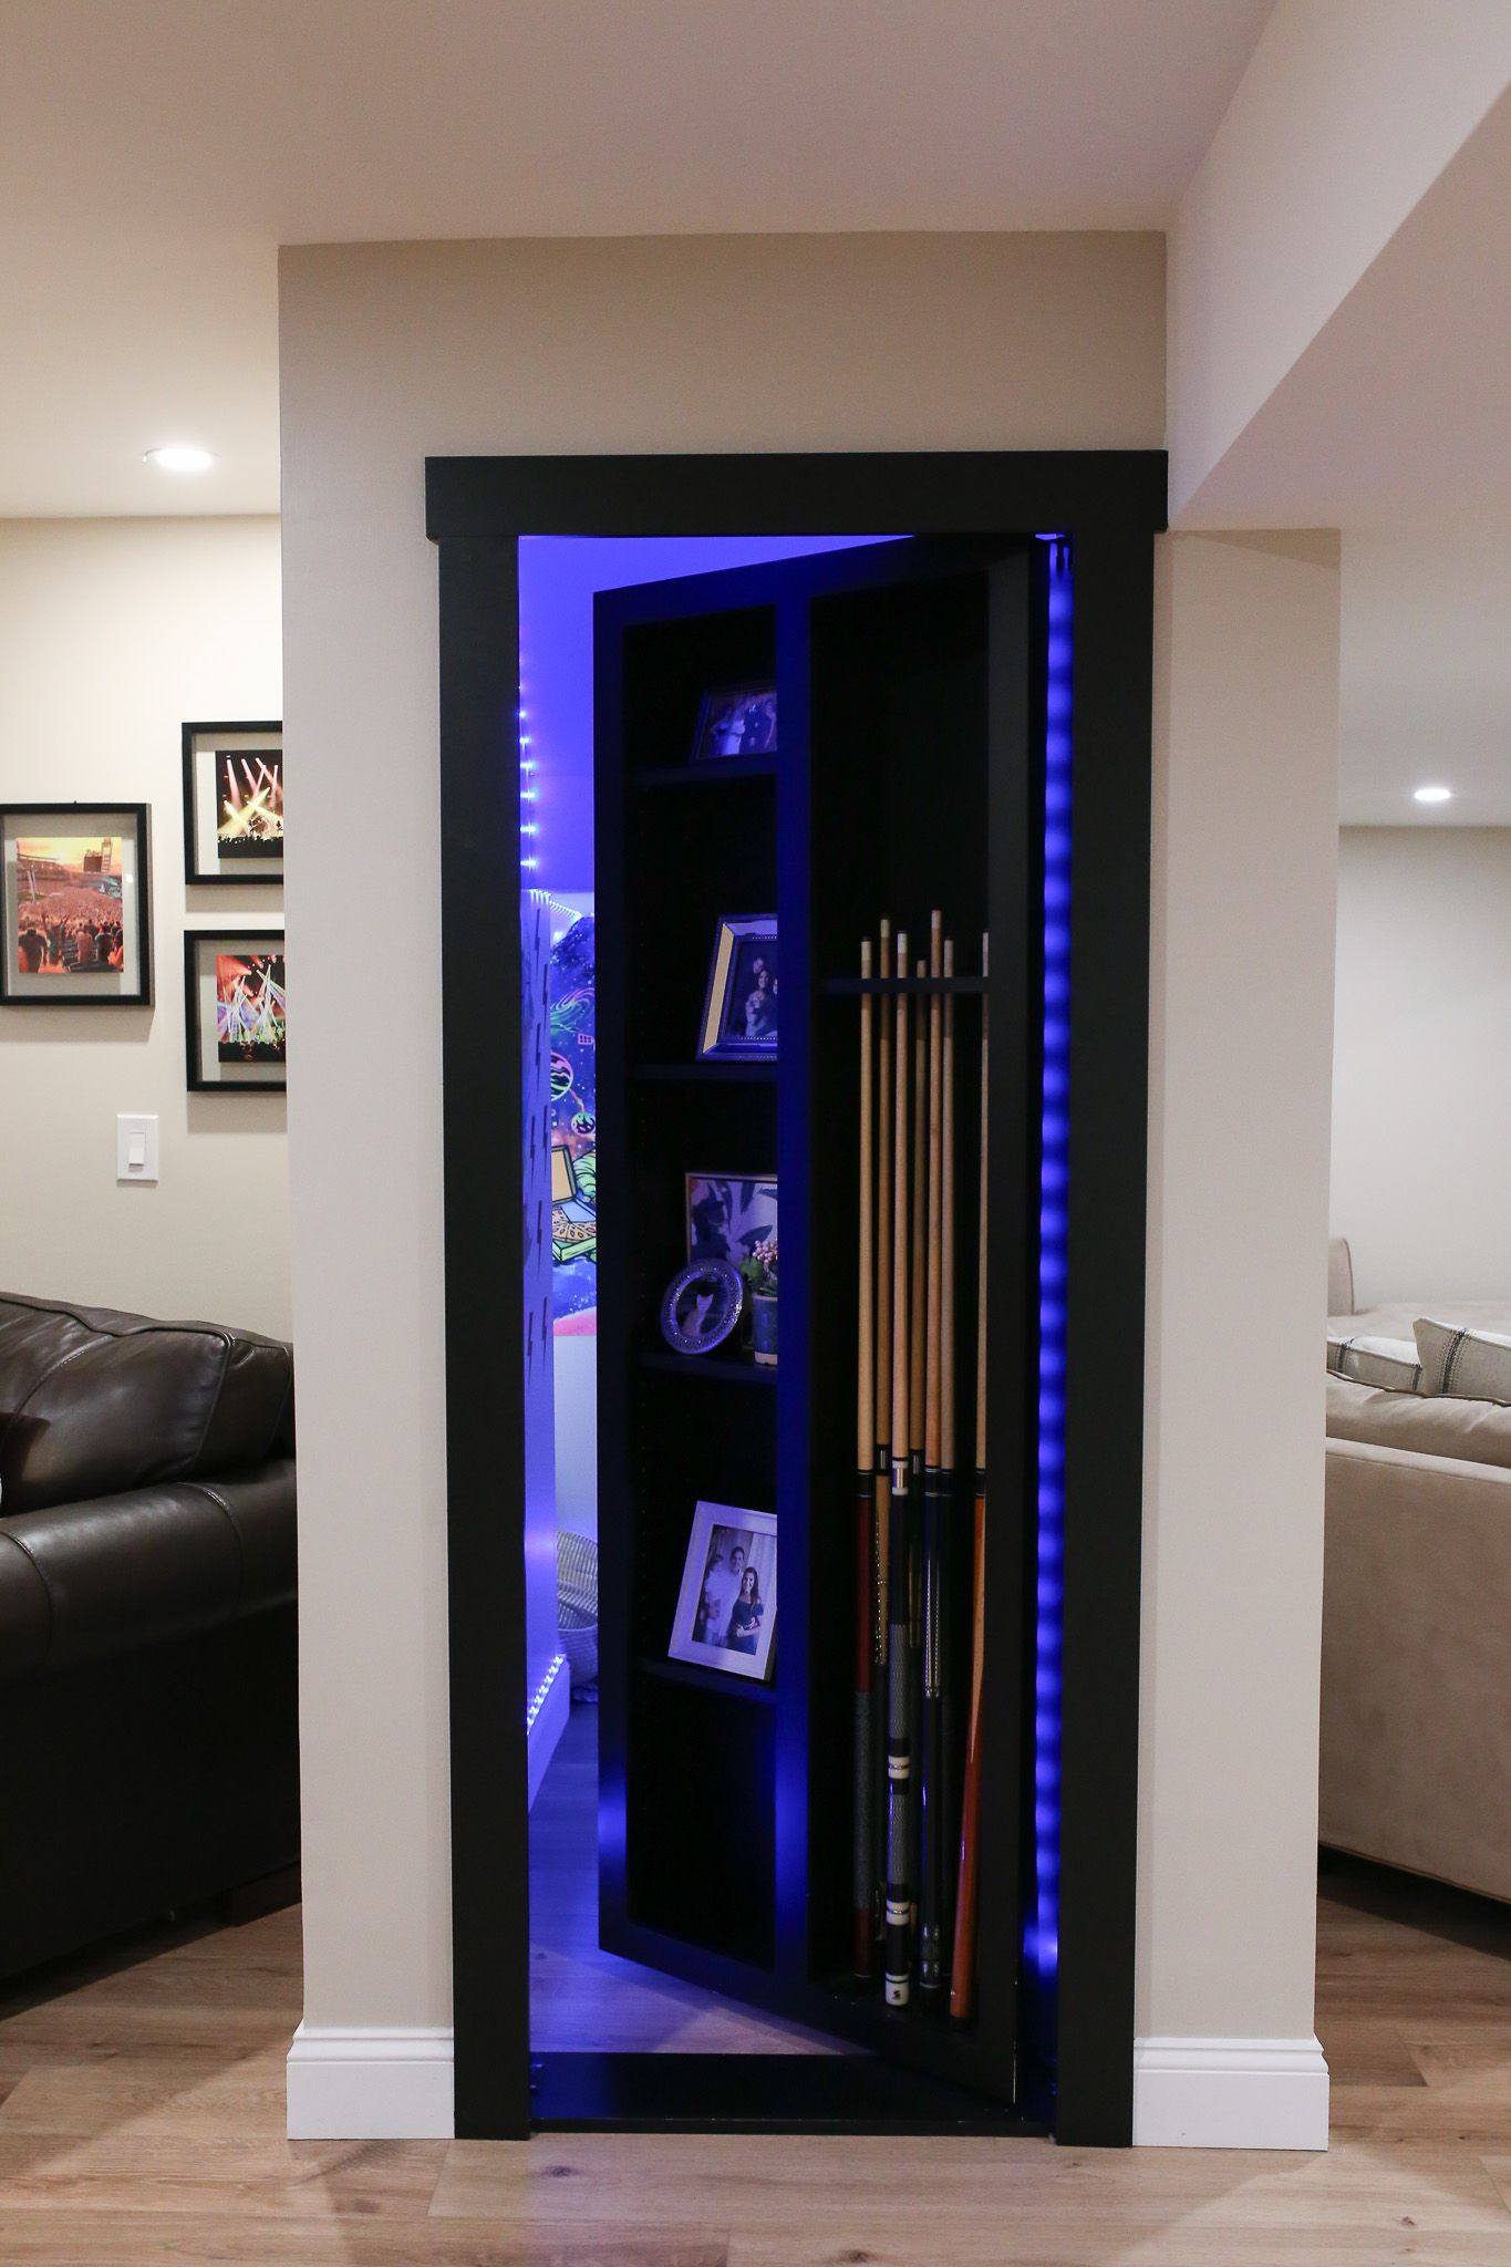
<path fill-rule="evenodd" d="M 272 1338 L 0 1294 L 7 1514 L 261 1464 L 290 1421 L 292 1358 Z"/>

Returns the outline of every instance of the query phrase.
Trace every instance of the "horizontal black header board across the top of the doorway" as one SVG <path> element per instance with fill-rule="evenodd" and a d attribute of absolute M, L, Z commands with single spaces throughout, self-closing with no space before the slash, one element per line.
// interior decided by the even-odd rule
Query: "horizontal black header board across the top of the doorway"
<path fill-rule="evenodd" d="M 999 535 L 1164 526 L 1160 449 L 897 456 L 433 456 L 426 533 Z"/>

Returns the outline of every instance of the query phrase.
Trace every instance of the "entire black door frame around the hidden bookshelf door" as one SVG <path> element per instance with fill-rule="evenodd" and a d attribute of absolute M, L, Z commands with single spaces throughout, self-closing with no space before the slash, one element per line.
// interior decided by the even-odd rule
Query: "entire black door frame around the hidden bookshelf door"
<path fill-rule="evenodd" d="M 1160 451 L 428 458 L 439 546 L 446 1537 L 458 2138 L 530 2131 L 519 941 L 521 535 L 1074 540 L 1056 2136 L 1133 2133 L 1149 800 Z M 489 1031 L 489 1047 L 478 1045 Z M 1087 1109 L 1087 1102 L 1094 1102 Z"/>

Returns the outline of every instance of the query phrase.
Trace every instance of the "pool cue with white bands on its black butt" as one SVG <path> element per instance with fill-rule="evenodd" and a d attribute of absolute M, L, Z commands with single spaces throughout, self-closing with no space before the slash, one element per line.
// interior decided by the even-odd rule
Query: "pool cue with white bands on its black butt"
<path fill-rule="evenodd" d="M 897 934 L 897 975 L 908 973 L 908 939 Z M 911 1383 L 908 1358 L 908 995 L 897 993 L 897 1059 L 893 1134 L 893 1505 L 886 1637 L 886 2004 L 906 2006 L 913 1965 L 913 1877 L 908 1866 L 908 1478 Z"/>

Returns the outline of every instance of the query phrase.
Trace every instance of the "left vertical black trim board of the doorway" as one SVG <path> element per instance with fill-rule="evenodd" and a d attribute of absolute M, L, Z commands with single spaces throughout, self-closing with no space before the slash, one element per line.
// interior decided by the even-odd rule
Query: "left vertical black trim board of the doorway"
<path fill-rule="evenodd" d="M 446 1537 L 455 2131 L 530 2131 L 523 1566 L 519 587 L 439 558 Z M 503 911 L 503 918 L 498 918 Z"/>

